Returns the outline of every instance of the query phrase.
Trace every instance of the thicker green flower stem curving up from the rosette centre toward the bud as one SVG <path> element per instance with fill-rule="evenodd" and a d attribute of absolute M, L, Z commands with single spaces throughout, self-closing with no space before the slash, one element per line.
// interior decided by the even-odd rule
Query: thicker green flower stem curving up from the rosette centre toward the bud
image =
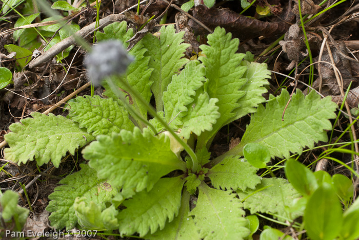
<path fill-rule="evenodd" d="M 157 115 L 156 111 L 154 110 L 154 108 L 147 104 L 146 101 L 142 98 L 141 95 L 139 95 L 136 91 L 134 91 L 130 84 L 128 84 L 126 81 L 124 81 L 122 78 L 119 78 L 119 81 L 121 81 L 121 83 L 126 86 L 126 88 L 130 91 L 130 94 L 133 95 L 135 98 L 137 98 L 148 110 L 148 112 L 152 115 L 152 117 L 156 118 L 159 122 L 161 122 L 161 124 L 166 128 L 166 130 L 168 130 L 168 132 L 174 137 L 174 139 L 177 140 L 177 142 L 179 144 L 181 144 L 183 146 L 183 148 L 185 149 L 185 151 L 187 152 L 187 154 L 190 156 L 191 160 L 192 160 L 192 172 L 195 173 L 197 171 L 198 168 L 198 160 L 197 160 L 197 156 L 195 155 L 194 151 L 192 150 L 192 148 L 185 143 L 181 138 L 178 137 L 178 135 L 172 130 L 171 127 L 169 127 L 167 125 L 167 123 Z M 113 83 L 112 83 L 113 84 Z M 116 86 L 111 86 L 111 88 L 116 88 Z M 121 95 L 121 94 L 119 94 Z M 122 96 L 122 95 L 121 95 Z M 123 96 L 122 96 L 123 97 Z M 121 99 L 123 100 L 123 99 Z M 126 102 L 127 103 L 127 102 Z M 132 108 L 131 108 L 132 109 Z M 150 125 L 149 125 L 150 126 Z M 152 126 L 152 125 L 151 125 Z M 152 126 L 153 127 L 153 126 Z M 154 130 L 154 132 L 156 133 L 156 130 Z"/>

